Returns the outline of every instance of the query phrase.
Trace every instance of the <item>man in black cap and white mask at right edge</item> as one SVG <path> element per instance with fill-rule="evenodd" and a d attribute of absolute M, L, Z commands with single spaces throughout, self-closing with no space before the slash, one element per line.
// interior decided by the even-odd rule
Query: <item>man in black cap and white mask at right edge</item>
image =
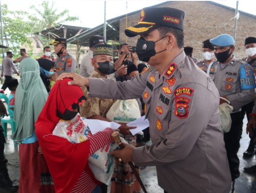
<path fill-rule="evenodd" d="M 243 61 L 247 62 L 253 68 L 254 76 L 256 76 L 256 38 L 255 37 L 248 37 L 245 39 L 245 52 L 248 57 L 244 58 Z M 253 101 L 244 105 L 242 108 L 242 117 L 241 117 L 241 128 L 243 128 L 243 118 L 246 114 L 247 120 L 249 121 L 249 114 L 253 110 Z M 247 150 L 243 153 L 243 157 L 252 157 L 255 154 L 255 142 L 251 138 L 252 136 L 249 134 L 250 142 Z M 256 173 L 256 170 L 255 170 Z"/>

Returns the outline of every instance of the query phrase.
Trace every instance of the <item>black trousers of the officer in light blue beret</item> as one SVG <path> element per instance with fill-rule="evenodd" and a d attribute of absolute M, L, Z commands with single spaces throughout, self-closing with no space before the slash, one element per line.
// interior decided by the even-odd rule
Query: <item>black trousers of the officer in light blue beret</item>
<path fill-rule="evenodd" d="M 231 113 L 231 128 L 228 133 L 224 133 L 224 142 L 227 152 L 227 158 L 229 161 L 229 170 L 231 173 L 232 181 L 239 177 L 239 158 L 237 152 L 240 147 L 240 138 L 242 131 L 240 129 L 241 111 Z"/>

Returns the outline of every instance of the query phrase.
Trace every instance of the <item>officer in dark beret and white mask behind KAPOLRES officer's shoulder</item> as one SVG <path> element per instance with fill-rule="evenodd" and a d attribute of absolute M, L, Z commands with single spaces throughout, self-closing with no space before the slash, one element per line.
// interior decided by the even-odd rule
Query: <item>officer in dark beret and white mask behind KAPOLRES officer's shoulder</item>
<path fill-rule="evenodd" d="M 206 39 L 202 43 L 202 54 L 203 59 L 200 62 L 197 62 L 196 65 L 203 70 L 203 72 L 207 72 L 208 66 L 210 63 L 214 62 L 215 55 L 213 52 L 213 44 L 210 43 L 210 39 Z"/>

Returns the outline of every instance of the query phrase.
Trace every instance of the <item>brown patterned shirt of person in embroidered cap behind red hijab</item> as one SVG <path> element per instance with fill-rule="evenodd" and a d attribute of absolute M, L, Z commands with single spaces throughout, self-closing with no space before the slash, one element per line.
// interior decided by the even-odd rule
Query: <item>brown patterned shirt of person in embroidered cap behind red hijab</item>
<path fill-rule="evenodd" d="M 93 70 L 93 73 L 90 75 L 90 77 L 103 78 L 105 80 L 105 78 L 95 70 Z M 84 118 L 90 118 L 93 115 L 101 115 L 106 118 L 106 113 L 109 111 L 115 100 L 90 97 L 89 92 L 85 86 L 82 88 L 82 90 L 87 100 L 80 107 L 81 116 Z"/>

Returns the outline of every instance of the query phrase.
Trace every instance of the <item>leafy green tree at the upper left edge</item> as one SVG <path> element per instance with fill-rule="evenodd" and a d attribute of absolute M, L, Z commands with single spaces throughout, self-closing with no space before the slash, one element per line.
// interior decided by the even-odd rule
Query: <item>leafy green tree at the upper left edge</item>
<path fill-rule="evenodd" d="M 25 20 L 28 13 L 8 10 L 7 4 L 3 4 L 2 16 L 3 38 L 9 47 L 8 49 L 17 54 L 24 44 L 32 48 L 31 41 L 28 39 L 33 34 L 32 25 L 30 21 Z"/>

